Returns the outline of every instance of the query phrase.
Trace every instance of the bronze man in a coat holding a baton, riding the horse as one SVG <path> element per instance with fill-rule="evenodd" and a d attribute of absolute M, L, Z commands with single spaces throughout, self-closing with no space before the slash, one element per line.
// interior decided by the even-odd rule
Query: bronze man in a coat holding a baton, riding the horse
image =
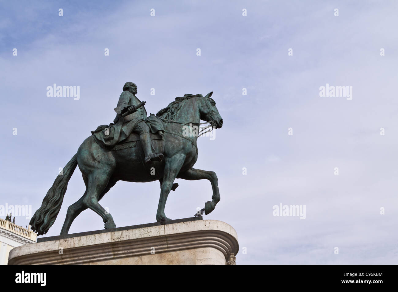
<path fill-rule="evenodd" d="M 144 106 L 141 106 L 137 109 L 137 111 L 125 116 L 124 118 L 121 116 L 122 112 L 124 112 L 126 108 L 130 108 L 131 106 L 139 106 L 141 101 L 135 96 L 136 94 L 137 85 L 135 85 L 133 82 L 126 82 L 126 84 L 123 86 L 123 92 L 119 97 L 117 107 L 115 108 L 117 116 L 113 121 L 116 124 L 117 122 L 122 122 L 119 121 L 119 119 L 123 119 L 119 141 L 129 137 L 133 131 L 135 133 L 139 133 L 141 146 L 145 154 L 145 163 L 150 164 L 152 161 L 161 161 L 163 159 L 163 154 L 156 154 L 152 152 L 152 144 L 149 134 L 150 129 L 145 123 L 147 114 Z"/>

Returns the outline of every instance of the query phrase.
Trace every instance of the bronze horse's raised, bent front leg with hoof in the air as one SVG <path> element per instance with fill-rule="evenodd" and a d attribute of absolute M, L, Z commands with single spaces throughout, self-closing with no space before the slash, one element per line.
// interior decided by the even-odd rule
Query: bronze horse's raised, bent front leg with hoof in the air
<path fill-rule="evenodd" d="M 209 180 L 213 188 L 213 196 L 211 197 L 212 201 L 207 201 L 205 203 L 205 214 L 207 215 L 214 210 L 217 203 L 220 201 L 219 184 L 217 175 L 214 171 L 190 168 L 183 173 L 179 173 L 177 178 L 182 178 L 184 180 Z"/>

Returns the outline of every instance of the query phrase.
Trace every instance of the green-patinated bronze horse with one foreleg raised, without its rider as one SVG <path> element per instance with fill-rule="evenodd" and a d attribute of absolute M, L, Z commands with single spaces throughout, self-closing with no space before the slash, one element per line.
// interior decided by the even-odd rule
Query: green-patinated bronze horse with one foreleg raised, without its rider
<path fill-rule="evenodd" d="M 115 228 L 112 215 L 107 213 L 98 201 L 119 180 L 127 182 L 159 180 L 160 199 L 156 221 L 162 224 L 171 220 L 166 217 L 164 208 L 168 194 L 178 186 L 174 184 L 176 178 L 209 180 L 213 196 L 212 201 L 207 201 L 204 208 L 205 214 L 209 214 L 220 201 L 217 175 L 213 171 L 192 167 L 197 161 L 198 135 L 187 135 L 186 130 L 200 124 L 210 124 L 212 128 L 222 127 L 222 118 L 215 101 L 211 99 L 212 94 L 213 92 L 206 96 L 189 94 L 177 97 L 156 114 L 156 117 L 164 122 L 165 130 L 162 138 L 151 134 L 152 147 L 156 153 L 164 154 L 162 161 L 154 161 L 149 165 L 143 163 L 143 151 L 140 143 L 137 143 L 137 137 L 134 137 L 137 134 L 134 133 L 113 149 L 101 147 L 94 135 L 88 137 L 63 168 L 62 174 L 55 179 L 41 207 L 30 220 L 31 229 L 38 235 L 48 232 L 61 209 L 68 182 L 77 165 L 82 172 L 86 191 L 78 201 L 68 207 L 60 235 L 68 234 L 73 220 L 87 208 L 102 217 L 106 229 Z M 200 123 L 201 120 L 206 123 Z"/>

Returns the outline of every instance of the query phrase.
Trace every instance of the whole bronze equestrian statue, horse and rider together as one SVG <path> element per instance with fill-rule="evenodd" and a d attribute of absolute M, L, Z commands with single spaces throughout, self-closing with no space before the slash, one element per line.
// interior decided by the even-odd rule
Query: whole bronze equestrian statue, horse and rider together
<path fill-rule="evenodd" d="M 212 201 L 205 203 L 204 211 L 207 215 L 214 210 L 220 201 L 217 175 L 213 171 L 192 167 L 197 161 L 198 135 L 184 134 L 187 127 L 198 127 L 200 124 L 210 124 L 212 128 L 222 127 L 222 118 L 215 101 L 211 99 L 213 92 L 206 96 L 187 94 L 176 97 L 156 116 L 151 114 L 148 117 L 143 108 L 145 102 L 139 103 L 136 93 L 137 86 L 127 82 L 115 108 L 118 115 L 114 124 L 102 125 L 92 131 L 92 135 L 83 141 L 77 153 L 63 168 L 63 174 L 57 176 L 41 207 L 30 220 L 31 229 L 37 234 L 46 234 L 55 222 L 68 181 L 77 165 L 82 172 L 86 191 L 76 203 L 68 207 L 61 235 L 68 234 L 73 220 L 87 208 L 102 217 L 105 228 L 115 228 L 111 214 L 98 201 L 119 180 L 159 180 L 160 199 L 156 212 L 158 222 L 171 220 L 166 217 L 164 208 L 168 194 L 178 187 L 178 184 L 174 184 L 176 178 L 209 180 L 213 196 Z M 207 123 L 200 123 L 201 120 Z"/>

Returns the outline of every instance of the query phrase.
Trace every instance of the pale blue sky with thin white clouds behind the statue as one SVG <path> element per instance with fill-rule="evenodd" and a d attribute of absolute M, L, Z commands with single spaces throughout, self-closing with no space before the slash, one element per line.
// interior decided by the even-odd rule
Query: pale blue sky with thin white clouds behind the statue
<path fill-rule="evenodd" d="M 235 228 L 237 264 L 396 264 L 397 8 L 1 1 L 0 206 L 34 213 L 90 131 L 113 121 L 125 82 L 137 84 L 148 114 L 213 91 L 224 124 L 199 137 L 194 167 L 217 173 L 221 201 L 203 217 Z M 79 99 L 48 97 L 54 83 L 79 86 Z M 348 86 L 351 97 L 321 96 L 327 84 Z M 192 217 L 211 199 L 207 180 L 176 182 L 171 219 Z M 84 190 L 76 168 L 46 236 L 59 235 Z M 144 224 L 156 221 L 159 195 L 158 182 L 119 181 L 100 204 L 117 227 Z M 280 204 L 305 206 L 305 219 L 274 216 Z M 69 233 L 101 229 L 88 209 Z"/>

